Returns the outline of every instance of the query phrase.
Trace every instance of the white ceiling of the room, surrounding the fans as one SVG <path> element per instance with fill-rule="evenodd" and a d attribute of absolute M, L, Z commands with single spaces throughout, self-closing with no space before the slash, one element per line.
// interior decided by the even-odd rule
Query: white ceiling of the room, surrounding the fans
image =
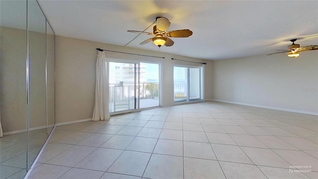
<path fill-rule="evenodd" d="M 190 29 L 188 38 L 171 38 L 171 47 L 139 45 L 141 34 L 127 47 L 221 60 L 265 55 L 286 49 L 289 40 L 301 46 L 318 44 L 318 1 L 212 0 L 39 0 L 55 33 L 61 36 L 126 45 L 157 16 L 169 19 L 168 30 Z M 146 31 L 152 32 L 152 26 Z"/>

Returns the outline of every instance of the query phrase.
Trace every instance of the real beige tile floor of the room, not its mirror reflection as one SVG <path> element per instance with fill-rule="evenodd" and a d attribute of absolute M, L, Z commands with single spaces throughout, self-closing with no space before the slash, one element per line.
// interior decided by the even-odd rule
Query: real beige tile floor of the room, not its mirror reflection
<path fill-rule="evenodd" d="M 29 177 L 141 178 L 318 179 L 318 116 L 202 102 L 57 126 Z"/>

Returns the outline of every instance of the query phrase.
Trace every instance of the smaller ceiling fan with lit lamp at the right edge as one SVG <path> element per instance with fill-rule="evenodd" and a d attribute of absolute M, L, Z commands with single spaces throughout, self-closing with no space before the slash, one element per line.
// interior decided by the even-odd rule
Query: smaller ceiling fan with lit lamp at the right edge
<path fill-rule="evenodd" d="M 308 45 L 308 46 L 301 47 L 299 44 L 295 44 L 296 40 L 297 39 L 290 40 L 292 42 L 292 44 L 287 47 L 287 50 L 278 50 L 281 52 L 275 52 L 275 53 L 271 53 L 271 54 L 267 54 L 267 55 L 288 52 L 287 53 L 288 57 L 295 58 L 295 57 L 300 56 L 299 52 L 304 52 L 304 51 L 309 51 L 309 50 L 318 50 L 318 45 Z"/>

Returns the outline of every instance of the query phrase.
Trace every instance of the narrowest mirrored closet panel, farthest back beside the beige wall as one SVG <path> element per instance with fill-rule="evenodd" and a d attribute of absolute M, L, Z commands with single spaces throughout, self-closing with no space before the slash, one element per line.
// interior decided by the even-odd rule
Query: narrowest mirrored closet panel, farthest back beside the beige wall
<path fill-rule="evenodd" d="M 47 134 L 55 124 L 55 34 L 46 22 L 46 60 L 47 60 Z"/>

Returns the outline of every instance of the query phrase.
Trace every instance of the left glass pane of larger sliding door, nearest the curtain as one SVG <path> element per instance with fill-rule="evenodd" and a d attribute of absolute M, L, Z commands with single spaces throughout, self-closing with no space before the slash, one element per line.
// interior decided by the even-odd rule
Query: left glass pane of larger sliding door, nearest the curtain
<path fill-rule="evenodd" d="M 109 62 L 109 112 L 136 109 L 137 66 Z"/>

